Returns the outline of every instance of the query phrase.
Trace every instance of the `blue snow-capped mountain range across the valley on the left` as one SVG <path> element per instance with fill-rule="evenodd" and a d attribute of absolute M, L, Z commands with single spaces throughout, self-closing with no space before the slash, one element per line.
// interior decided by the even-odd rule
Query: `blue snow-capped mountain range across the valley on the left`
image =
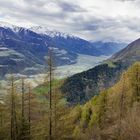
<path fill-rule="evenodd" d="M 0 76 L 42 72 L 48 47 L 54 50 L 57 66 L 62 66 L 75 64 L 79 54 L 112 55 L 124 46 L 114 42 L 93 43 L 41 26 L 27 29 L 0 22 Z"/>

